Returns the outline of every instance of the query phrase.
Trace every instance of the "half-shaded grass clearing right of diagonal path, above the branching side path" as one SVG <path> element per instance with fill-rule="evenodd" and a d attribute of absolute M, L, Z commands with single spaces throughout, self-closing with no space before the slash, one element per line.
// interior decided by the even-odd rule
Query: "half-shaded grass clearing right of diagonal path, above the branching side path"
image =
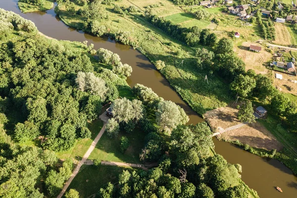
<path fill-rule="evenodd" d="M 104 133 L 96 148 L 91 153 L 89 159 L 100 159 L 104 161 L 116 161 L 127 163 L 140 163 L 139 153 L 144 147 L 145 133 L 136 128 L 132 133 L 120 132 L 116 139 L 110 139 Z M 129 148 L 122 153 L 120 149 L 120 139 L 126 136 L 129 140 Z"/>

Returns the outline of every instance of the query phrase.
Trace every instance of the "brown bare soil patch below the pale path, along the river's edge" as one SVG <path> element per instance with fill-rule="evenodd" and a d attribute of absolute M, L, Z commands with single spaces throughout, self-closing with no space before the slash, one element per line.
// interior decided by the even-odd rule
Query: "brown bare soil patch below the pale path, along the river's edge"
<path fill-rule="evenodd" d="M 243 126 L 239 129 L 227 131 L 218 138 L 224 140 L 238 140 L 254 148 L 264 148 L 267 150 L 280 150 L 282 148 L 281 143 L 258 122 Z"/>

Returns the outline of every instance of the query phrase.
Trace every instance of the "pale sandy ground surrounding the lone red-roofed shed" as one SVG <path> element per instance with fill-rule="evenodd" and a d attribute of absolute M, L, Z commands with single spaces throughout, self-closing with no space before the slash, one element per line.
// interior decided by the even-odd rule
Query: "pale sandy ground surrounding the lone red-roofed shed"
<path fill-rule="evenodd" d="M 264 65 L 268 65 L 271 61 L 272 54 L 265 51 L 262 46 L 260 52 L 249 51 L 250 45 L 260 46 L 259 44 L 244 42 L 240 46 L 235 46 L 234 51 L 237 55 L 246 63 L 246 69 L 253 69 L 257 74 L 267 73 L 267 68 Z"/>

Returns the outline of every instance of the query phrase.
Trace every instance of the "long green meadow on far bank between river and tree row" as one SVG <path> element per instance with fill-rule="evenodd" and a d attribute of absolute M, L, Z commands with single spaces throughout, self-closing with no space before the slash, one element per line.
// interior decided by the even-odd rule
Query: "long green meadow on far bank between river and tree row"
<path fill-rule="evenodd" d="M 106 8 L 110 10 L 113 6 L 107 5 Z M 82 29 L 82 17 L 71 16 L 63 7 L 61 9 L 60 18 L 67 25 Z M 108 14 L 108 20 L 100 23 L 109 28 L 111 34 L 118 30 L 129 31 L 133 38 L 138 39 L 138 49 L 150 61 L 163 60 L 166 64 L 163 75 L 196 112 L 203 114 L 207 110 L 225 106 L 230 101 L 228 86 L 217 76 L 208 76 L 209 85 L 204 81 L 207 73 L 196 67 L 193 48 L 170 38 L 137 15 L 122 17 L 111 11 Z M 180 64 L 182 61 L 183 64 Z"/>

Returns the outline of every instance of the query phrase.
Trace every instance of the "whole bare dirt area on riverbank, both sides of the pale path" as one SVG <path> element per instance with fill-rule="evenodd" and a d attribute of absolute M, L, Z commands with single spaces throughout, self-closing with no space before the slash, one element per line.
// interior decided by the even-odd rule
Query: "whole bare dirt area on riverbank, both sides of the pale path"
<path fill-rule="evenodd" d="M 220 107 L 207 111 L 204 114 L 204 118 L 216 132 L 220 129 L 238 125 L 241 122 L 237 119 L 238 109 L 235 107 L 236 104 L 233 104 L 227 107 Z M 282 148 L 282 145 L 274 138 L 274 136 L 258 122 L 227 131 L 218 138 L 225 140 L 239 140 L 243 144 L 268 150 L 273 148 L 279 150 Z"/>

